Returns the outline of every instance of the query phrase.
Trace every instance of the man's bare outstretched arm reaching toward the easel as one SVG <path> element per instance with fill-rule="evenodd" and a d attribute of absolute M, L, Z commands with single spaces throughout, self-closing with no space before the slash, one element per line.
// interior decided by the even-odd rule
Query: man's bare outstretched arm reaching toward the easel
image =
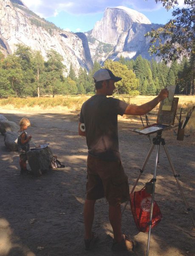
<path fill-rule="evenodd" d="M 142 104 L 140 106 L 136 106 L 136 105 L 128 105 L 124 114 L 125 115 L 144 115 L 148 112 L 150 112 L 153 108 L 155 108 L 156 105 L 158 105 L 159 102 L 161 102 L 161 100 L 167 98 L 169 95 L 168 90 L 167 89 L 163 89 L 161 90 L 161 92 L 159 93 L 159 95 L 157 97 L 155 97 L 153 100 L 151 100 L 150 102 L 147 102 L 145 104 Z"/>

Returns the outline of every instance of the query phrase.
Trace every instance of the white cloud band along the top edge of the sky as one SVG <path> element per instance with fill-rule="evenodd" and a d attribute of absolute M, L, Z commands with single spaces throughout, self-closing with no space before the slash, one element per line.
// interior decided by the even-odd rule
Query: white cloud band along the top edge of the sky
<path fill-rule="evenodd" d="M 179 3 L 184 0 L 178 0 Z M 71 14 L 88 14 L 104 12 L 107 7 L 126 6 L 136 11 L 153 11 L 162 7 L 155 0 L 23 0 L 26 6 L 35 13 L 41 13 L 44 17 L 52 17 L 61 11 Z"/>

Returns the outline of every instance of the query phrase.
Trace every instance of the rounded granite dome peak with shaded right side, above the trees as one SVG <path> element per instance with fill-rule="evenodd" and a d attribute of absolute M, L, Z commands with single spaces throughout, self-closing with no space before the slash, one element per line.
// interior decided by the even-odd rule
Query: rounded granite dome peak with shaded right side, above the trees
<path fill-rule="evenodd" d="M 117 60 L 121 55 L 124 58 L 136 58 L 139 54 L 150 59 L 150 38 L 144 35 L 159 26 L 151 24 L 146 16 L 130 8 L 107 8 L 102 20 L 86 33 L 92 59 L 103 62 L 107 58 Z"/>

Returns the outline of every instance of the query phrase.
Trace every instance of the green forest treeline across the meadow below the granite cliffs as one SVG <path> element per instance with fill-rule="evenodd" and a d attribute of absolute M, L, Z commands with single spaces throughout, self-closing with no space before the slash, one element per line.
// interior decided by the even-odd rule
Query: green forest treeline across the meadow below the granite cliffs
<path fill-rule="evenodd" d="M 0 52 L 0 97 L 33 96 L 46 94 L 75 95 L 94 93 L 93 73 L 100 64 L 95 61 L 93 69 L 87 72 L 80 67 L 76 76 L 71 64 L 69 72 L 62 63 L 63 58 L 51 49 L 47 61 L 40 51 L 17 44 L 15 52 L 6 58 Z M 176 85 L 176 93 L 192 94 L 192 69 L 187 58 L 178 63 L 172 61 L 168 66 L 164 61 L 148 61 L 139 55 L 136 60 L 107 60 L 109 68 L 122 80 L 116 83 L 116 93 L 130 95 L 156 95 L 164 86 Z M 64 74 L 68 73 L 68 76 Z"/>

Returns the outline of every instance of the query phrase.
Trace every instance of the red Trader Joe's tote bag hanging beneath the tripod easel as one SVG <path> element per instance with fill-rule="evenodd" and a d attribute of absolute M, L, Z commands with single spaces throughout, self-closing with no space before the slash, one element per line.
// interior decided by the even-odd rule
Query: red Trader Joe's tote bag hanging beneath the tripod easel
<path fill-rule="evenodd" d="M 138 230 L 144 233 L 148 232 L 150 227 L 148 222 L 150 221 L 151 200 L 151 194 L 146 192 L 145 187 L 140 191 L 130 193 L 130 204 L 134 221 Z M 151 228 L 155 227 L 161 221 L 161 218 L 160 208 L 154 201 Z"/>

